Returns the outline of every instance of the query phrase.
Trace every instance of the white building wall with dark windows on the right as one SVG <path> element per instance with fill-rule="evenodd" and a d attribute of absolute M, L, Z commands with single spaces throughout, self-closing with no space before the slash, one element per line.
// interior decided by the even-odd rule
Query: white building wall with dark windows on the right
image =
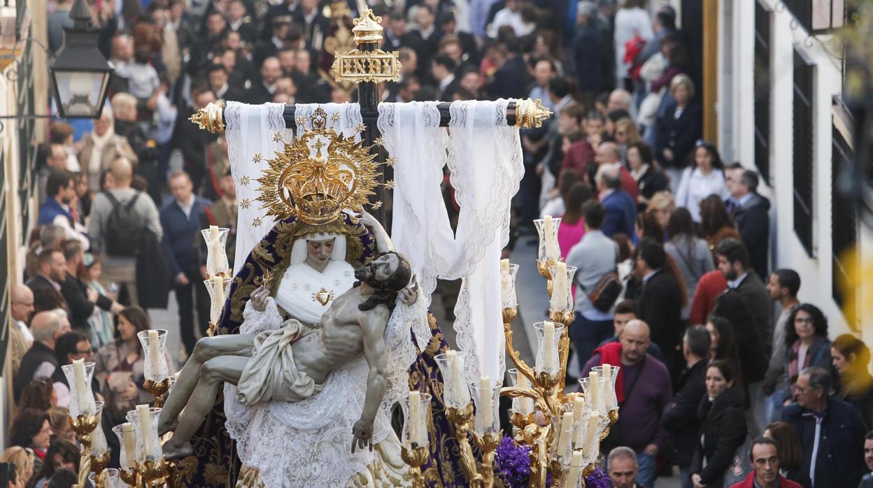
<path fill-rule="evenodd" d="M 849 332 L 842 311 L 833 299 L 831 246 L 831 103 L 841 93 L 842 73 L 822 40 L 810 38 L 778 0 L 723 0 L 719 24 L 719 77 L 729 73 L 729 82 L 719 80 L 718 100 L 731 107 L 718 111 L 719 150 L 725 160 L 754 165 L 754 25 L 755 4 L 770 10 L 771 22 L 771 126 L 770 174 L 772 187 L 761 183 L 760 193 L 770 199 L 771 269 L 792 268 L 801 275 L 801 301 L 821 307 L 830 321 L 830 336 Z M 814 150 L 814 240 L 810 258 L 794 234 L 793 105 L 794 48 L 815 64 L 813 101 Z M 829 46 L 828 46 L 829 48 Z M 833 50 L 831 50 L 833 51 Z M 859 233 L 870 237 L 869 234 Z M 863 237 L 862 237 L 863 238 Z M 869 245 L 869 244 L 868 244 Z"/>

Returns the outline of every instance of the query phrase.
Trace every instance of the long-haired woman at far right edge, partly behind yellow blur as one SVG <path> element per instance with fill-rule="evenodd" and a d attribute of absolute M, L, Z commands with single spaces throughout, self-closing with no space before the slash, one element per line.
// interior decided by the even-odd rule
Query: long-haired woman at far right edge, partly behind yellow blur
<path fill-rule="evenodd" d="M 834 369 L 840 378 L 836 397 L 855 405 L 864 422 L 873 426 L 873 376 L 870 366 L 870 347 L 850 333 L 837 336 L 830 345 Z"/>

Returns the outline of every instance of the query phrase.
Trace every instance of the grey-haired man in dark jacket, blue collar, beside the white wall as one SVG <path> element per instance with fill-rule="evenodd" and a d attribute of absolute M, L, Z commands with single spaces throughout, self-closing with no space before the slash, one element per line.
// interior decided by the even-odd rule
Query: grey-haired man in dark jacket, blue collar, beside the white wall
<path fill-rule="evenodd" d="M 752 268 L 759 277 L 768 276 L 770 201 L 758 193 L 758 174 L 735 163 L 725 170 L 725 184 L 731 191 L 725 207 L 733 215 L 739 236 L 749 250 Z"/>

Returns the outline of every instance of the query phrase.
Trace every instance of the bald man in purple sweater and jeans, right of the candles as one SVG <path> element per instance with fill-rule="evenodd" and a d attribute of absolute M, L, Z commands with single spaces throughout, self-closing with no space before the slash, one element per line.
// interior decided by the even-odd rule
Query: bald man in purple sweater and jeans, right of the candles
<path fill-rule="evenodd" d="M 667 443 L 667 431 L 661 426 L 661 415 L 673 397 L 670 374 L 663 362 L 646 354 L 650 343 L 649 326 L 643 320 L 630 320 L 619 337 L 620 342 L 604 344 L 595 349 L 582 371 L 602 364 L 619 366 L 615 394 L 622 415 L 603 441 L 603 449 L 628 446 L 636 452 L 639 473 L 637 484 L 655 485 L 655 460 Z"/>

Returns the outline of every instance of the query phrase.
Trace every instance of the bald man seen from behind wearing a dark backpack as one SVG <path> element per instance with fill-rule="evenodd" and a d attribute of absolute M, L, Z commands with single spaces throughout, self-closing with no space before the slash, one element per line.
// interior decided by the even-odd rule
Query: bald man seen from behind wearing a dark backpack
<path fill-rule="evenodd" d="M 135 232 L 121 231 L 139 227 L 155 234 L 160 241 L 163 236 L 161 219 L 152 199 L 139 191 L 130 188 L 133 168 L 127 158 L 117 158 L 110 167 L 114 185 L 107 192 L 94 196 L 91 207 L 91 220 L 88 223 L 88 236 L 91 237 L 92 251 L 100 255 L 103 263 L 104 284 L 116 283 L 127 288 L 130 305 L 139 305 L 139 295 L 136 290 L 136 252 L 141 239 L 134 238 Z M 139 219 L 129 219 L 123 222 L 121 228 L 109 228 L 109 217 L 116 206 L 132 205 L 133 213 Z M 123 212 L 116 212 L 119 216 Z M 115 222 L 119 222 L 116 220 Z"/>

